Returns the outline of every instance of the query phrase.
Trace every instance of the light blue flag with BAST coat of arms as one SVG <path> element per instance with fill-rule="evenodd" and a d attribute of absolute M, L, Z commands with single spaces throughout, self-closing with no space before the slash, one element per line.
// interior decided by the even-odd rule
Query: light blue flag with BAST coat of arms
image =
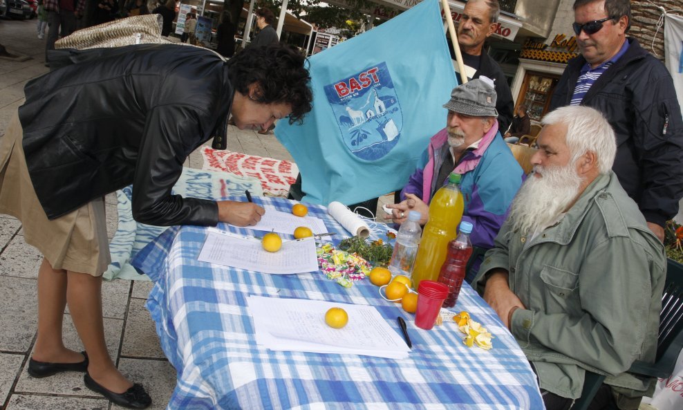
<path fill-rule="evenodd" d="M 438 0 L 310 57 L 313 109 L 275 136 L 297 162 L 303 201 L 346 205 L 401 189 L 457 85 Z"/>

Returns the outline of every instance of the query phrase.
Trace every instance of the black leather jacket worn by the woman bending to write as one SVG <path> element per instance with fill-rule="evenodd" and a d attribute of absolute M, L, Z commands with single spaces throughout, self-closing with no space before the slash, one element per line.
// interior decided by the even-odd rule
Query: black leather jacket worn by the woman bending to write
<path fill-rule="evenodd" d="M 189 153 L 225 140 L 233 87 L 218 55 L 174 44 L 56 50 L 19 107 L 38 199 L 57 218 L 133 183 L 133 217 L 216 225 L 214 201 L 171 195 Z"/>

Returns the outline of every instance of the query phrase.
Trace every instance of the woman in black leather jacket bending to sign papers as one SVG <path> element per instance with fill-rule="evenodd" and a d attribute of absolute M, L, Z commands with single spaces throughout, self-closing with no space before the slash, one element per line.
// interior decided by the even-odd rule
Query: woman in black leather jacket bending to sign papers
<path fill-rule="evenodd" d="M 88 388 L 148 407 L 149 395 L 111 362 L 104 344 L 101 275 L 109 264 L 105 194 L 133 184 L 133 216 L 153 225 L 253 225 L 254 203 L 171 194 L 189 153 L 225 148 L 227 120 L 268 129 L 301 121 L 312 93 L 305 60 L 287 46 L 225 59 L 202 48 L 142 44 L 56 50 L 53 71 L 26 85 L 26 103 L 0 147 L 0 213 L 24 225 L 44 255 L 38 336 L 28 372 L 84 371 Z M 62 344 L 65 304 L 86 349 Z"/>

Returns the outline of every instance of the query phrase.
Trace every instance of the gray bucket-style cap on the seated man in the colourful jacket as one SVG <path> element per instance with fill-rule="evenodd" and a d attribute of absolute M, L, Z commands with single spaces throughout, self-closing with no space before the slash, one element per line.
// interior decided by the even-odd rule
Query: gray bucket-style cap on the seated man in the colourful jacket
<path fill-rule="evenodd" d="M 487 77 L 479 77 L 453 88 L 451 100 L 443 105 L 445 109 L 475 117 L 498 117 L 496 110 L 496 88 Z"/>

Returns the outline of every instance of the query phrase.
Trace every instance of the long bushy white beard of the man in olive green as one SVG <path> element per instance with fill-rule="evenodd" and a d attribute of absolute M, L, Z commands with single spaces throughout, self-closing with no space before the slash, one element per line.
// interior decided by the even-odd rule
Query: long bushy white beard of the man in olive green
<path fill-rule="evenodd" d="M 541 178 L 534 174 L 538 172 Z M 562 212 L 579 196 L 581 177 L 574 164 L 565 167 L 534 167 L 512 201 L 509 218 L 513 229 L 533 234 L 554 223 Z"/>

